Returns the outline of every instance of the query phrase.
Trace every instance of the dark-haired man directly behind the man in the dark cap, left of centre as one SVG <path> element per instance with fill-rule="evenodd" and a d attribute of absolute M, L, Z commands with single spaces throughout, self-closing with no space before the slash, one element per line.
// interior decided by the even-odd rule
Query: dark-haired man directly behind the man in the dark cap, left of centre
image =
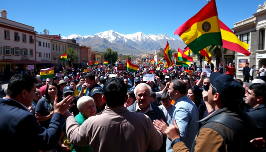
<path fill-rule="evenodd" d="M 86 75 L 84 75 L 85 77 L 85 87 L 86 87 L 86 92 L 85 92 L 85 96 L 90 96 L 90 91 L 95 88 L 95 87 L 101 87 L 100 85 L 98 85 L 95 82 L 95 75 L 93 73 L 87 73 Z"/>

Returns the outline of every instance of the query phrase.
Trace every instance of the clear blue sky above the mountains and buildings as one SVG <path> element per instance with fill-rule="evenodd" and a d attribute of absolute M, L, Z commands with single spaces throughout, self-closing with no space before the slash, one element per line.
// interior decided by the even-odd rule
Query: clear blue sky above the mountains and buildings
<path fill-rule="evenodd" d="M 195 15 L 207 0 L 1 0 L 7 19 L 50 34 L 168 34 Z M 230 28 L 252 17 L 264 0 L 216 0 L 220 20 Z"/>

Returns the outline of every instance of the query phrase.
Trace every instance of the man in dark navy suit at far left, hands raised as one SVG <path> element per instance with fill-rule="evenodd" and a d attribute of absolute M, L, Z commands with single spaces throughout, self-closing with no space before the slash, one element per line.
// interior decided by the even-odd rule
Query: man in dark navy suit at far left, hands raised
<path fill-rule="evenodd" d="M 36 91 L 36 78 L 26 74 L 15 74 L 7 87 L 6 97 L 0 99 L 0 143 L 3 152 L 38 152 L 52 150 L 60 139 L 62 125 L 73 97 L 60 103 L 54 102 L 54 114 L 49 128 L 42 128 L 28 108 Z M 69 112 L 68 112 L 69 113 Z"/>

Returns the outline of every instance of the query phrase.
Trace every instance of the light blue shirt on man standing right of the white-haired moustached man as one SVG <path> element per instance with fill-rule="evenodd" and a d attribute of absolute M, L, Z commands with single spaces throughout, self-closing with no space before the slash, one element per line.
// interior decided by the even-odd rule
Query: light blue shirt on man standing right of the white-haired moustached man
<path fill-rule="evenodd" d="M 191 150 L 192 143 L 198 133 L 199 129 L 199 113 L 196 105 L 192 102 L 187 95 L 179 98 L 174 104 L 176 109 L 173 112 L 173 118 L 177 122 L 180 131 L 180 137 L 186 146 Z M 174 119 L 170 124 L 174 125 Z M 167 139 L 166 152 L 173 152 L 171 148 L 172 142 Z"/>

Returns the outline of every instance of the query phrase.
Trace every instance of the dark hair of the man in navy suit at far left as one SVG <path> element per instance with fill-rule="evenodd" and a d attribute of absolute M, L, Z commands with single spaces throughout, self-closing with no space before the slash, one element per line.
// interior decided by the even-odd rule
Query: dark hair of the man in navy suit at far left
<path fill-rule="evenodd" d="M 24 89 L 30 92 L 36 84 L 37 79 L 28 74 L 15 74 L 11 77 L 7 86 L 7 95 L 16 97 Z"/>

